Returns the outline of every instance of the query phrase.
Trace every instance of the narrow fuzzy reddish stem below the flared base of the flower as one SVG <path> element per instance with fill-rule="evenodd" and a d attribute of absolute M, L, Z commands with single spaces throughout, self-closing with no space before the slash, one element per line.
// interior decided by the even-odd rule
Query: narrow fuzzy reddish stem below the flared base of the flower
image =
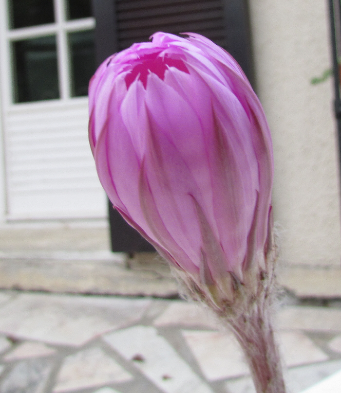
<path fill-rule="evenodd" d="M 267 307 L 256 307 L 247 319 L 240 315 L 228 324 L 245 353 L 256 392 L 285 393 L 281 359 L 268 313 Z"/>

